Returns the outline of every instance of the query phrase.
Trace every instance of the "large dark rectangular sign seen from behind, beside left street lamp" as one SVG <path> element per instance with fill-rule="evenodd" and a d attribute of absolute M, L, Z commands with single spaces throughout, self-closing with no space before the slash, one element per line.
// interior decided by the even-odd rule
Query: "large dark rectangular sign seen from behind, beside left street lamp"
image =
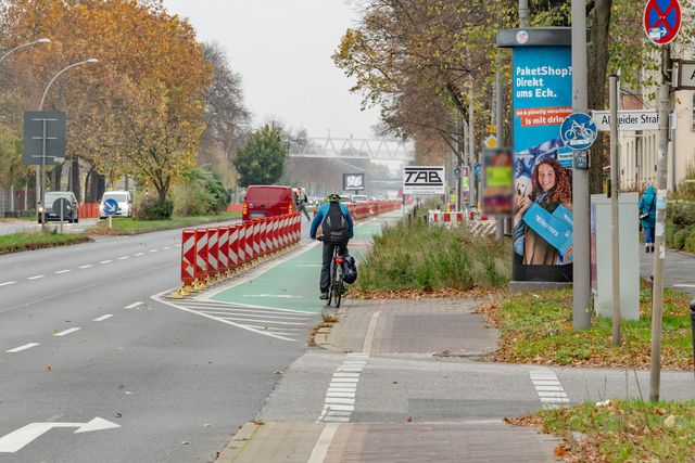
<path fill-rule="evenodd" d="M 27 111 L 24 113 L 24 164 L 40 166 L 65 160 L 67 144 L 65 113 Z"/>

